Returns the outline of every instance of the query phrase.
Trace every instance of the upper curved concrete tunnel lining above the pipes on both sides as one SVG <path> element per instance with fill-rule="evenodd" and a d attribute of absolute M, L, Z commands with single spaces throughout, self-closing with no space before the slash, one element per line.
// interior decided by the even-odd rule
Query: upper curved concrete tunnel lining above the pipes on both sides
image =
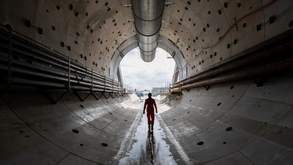
<path fill-rule="evenodd" d="M 163 32 L 160 35 L 170 39 L 182 52 L 185 61 L 189 61 L 202 49 L 214 45 L 235 20 L 257 11 L 271 0 L 168 2 L 171 5 L 164 9 L 163 19 L 166 22 L 162 23 Z M 133 19 L 132 11 L 124 6 L 127 5 L 127 1 L 124 0 L 4 0 L 0 3 L 1 24 L 8 23 L 13 30 L 98 72 L 110 74 L 111 77 L 115 72 L 110 68 L 111 57 L 113 54 L 119 56 L 119 53 L 115 53 L 117 47 L 135 36 L 134 22 L 129 21 Z M 221 60 L 291 29 L 292 6 L 291 0 L 278 0 L 265 10 L 243 20 L 234 26 L 218 45 L 190 62 L 187 74 L 191 75 L 209 68 Z M 272 23 L 268 21 L 270 17 L 274 18 Z M 30 28 L 26 26 L 25 20 L 30 21 Z M 257 25 L 260 25 L 260 29 Z M 43 34 L 39 34 L 38 28 L 43 29 Z M 64 47 L 61 42 L 64 42 Z M 71 47 L 70 51 L 68 46 Z"/>

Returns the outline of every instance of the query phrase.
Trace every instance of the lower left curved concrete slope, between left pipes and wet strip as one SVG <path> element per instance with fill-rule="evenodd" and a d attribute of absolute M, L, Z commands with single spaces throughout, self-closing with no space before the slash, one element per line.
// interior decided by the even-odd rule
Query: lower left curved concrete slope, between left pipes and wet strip
<path fill-rule="evenodd" d="M 49 92 L 56 100 L 64 91 Z M 81 102 L 69 92 L 54 105 L 38 88 L 10 86 L 1 98 L 0 164 L 111 164 L 142 114 L 136 95 Z"/>

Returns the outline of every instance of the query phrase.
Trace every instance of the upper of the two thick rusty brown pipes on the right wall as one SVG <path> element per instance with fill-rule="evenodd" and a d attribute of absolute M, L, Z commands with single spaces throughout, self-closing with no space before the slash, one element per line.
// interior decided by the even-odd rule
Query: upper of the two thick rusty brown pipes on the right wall
<path fill-rule="evenodd" d="M 217 76 L 219 74 L 231 72 L 233 70 L 240 69 L 240 68 L 248 66 L 248 65 L 259 63 L 259 62 L 263 61 L 263 59 L 270 59 L 271 57 L 275 56 L 276 54 L 285 54 L 284 52 L 290 51 L 292 49 L 293 49 L 293 41 L 288 42 L 283 45 L 280 45 L 278 47 L 274 47 L 269 50 L 256 52 L 251 55 L 247 55 L 243 58 L 234 60 L 233 62 L 230 62 L 229 64 L 226 64 L 223 67 L 220 67 L 218 69 L 206 72 L 204 74 L 201 74 L 201 75 L 196 76 L 191 79 L 186 79 L 185 81 L 181 81 L 181 82 L 183 82 L 182 84 L 176 84 L 176 85 L 174 85 L 174 87 L 177 88 L 180 85 L 193 83 L 195 81 L 199 81 L 199 80 L 206 79 L 209 77 Z"/>

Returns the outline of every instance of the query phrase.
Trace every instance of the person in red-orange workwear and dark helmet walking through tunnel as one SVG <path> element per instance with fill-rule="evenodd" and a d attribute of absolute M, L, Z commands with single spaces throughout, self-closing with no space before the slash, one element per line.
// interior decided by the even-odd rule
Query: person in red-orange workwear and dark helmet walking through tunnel
<path fill-rule="evenodd" d="M 155 120 L 155 114 L 154 114 L 154 106 L 156 108 L 156 113 L 157 111 L 157 105 L 155 102 L 155 99 L 151 98 L 151 93 L 148 94 L 149 98 L 147 98 L 144 101 L 144 114 L 145 114 L 145 109 L 147 106 L 147 121 L 149 125 L 149 129 L 154 130 L 154 120 Z"/>

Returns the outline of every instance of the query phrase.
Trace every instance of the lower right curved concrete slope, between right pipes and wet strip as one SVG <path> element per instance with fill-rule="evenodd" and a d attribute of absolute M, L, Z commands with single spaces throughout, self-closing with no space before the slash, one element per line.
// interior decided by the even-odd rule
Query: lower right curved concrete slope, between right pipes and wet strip
<path fill-rule="evenodd" d="M 290 74 L 184 91 L 161 123 L 193 164 L 291 164 L 292 84 Z"/>

